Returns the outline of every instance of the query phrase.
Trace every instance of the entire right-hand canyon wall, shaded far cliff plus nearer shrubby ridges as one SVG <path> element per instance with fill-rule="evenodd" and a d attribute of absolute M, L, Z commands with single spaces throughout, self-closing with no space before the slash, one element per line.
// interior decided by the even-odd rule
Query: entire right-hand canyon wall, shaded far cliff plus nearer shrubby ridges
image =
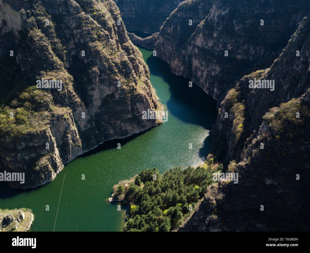
<path fill-rule="evenodd" d="M 217 100 L 210 153 L 240 176 L 210 186 L 178 231 L 309 229 L 309 10 L 308 1 L 184 1 L 153 41 L 134 36 Z M 254 79 L 276 84 L 251 90 Z"/>

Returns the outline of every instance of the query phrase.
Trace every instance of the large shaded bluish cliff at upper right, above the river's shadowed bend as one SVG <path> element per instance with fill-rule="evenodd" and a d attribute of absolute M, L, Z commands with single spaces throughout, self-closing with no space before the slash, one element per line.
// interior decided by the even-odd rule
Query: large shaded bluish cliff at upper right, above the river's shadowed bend
<path fill-rule="evenodd" d="M 272 64 L 309 9 L 306 0 L 184 1 L 163 24 L 155 50 L 220 103 L 238 79 Z"/>

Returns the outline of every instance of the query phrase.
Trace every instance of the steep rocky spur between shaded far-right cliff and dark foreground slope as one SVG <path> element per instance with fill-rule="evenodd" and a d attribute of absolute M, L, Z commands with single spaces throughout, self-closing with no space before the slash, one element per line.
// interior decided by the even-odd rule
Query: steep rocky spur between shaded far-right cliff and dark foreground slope
<path fill-rule="evenodd" d="M 270 108 L 298 98 L 307 90 L 310 84 L 309 23 L 309 17 L 302 19 L 299 28 L 272 66 L 244 76 L 221 102 L 210 137 L 212 151 L 216 153 L 220 150 L 227 154 L 227 162 L 234 159 L 240 161 L 246 139 L 253 131 L 258 131 L 263 115 Z M 255 78 L 274 80 L 274 90 L 249 88 L 250 80 Z"/>

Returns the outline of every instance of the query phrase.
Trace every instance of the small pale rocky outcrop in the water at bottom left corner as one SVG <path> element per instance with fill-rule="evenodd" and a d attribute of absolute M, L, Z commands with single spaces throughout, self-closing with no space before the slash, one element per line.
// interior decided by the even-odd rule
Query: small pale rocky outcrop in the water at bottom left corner
<path fill-rule="evenodd" d="M 25 232 L 30 229 L 33 222 L 33 214 L 28 209 L 1 210 L 0 231 Z"/>

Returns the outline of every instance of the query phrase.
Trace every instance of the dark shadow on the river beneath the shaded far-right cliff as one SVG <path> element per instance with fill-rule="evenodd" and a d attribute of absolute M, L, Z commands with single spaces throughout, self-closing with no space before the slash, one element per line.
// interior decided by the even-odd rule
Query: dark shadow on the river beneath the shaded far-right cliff
<path fill-rule="evenodd" d="M 150 56 L 146 63 L 150 74 L 162 77 L 169 84 L 171 97 L 166 103 L 169 112 L 185 123 L 210 130 L 217 117 L 217 102 L 197 84 L 193 83 L 193 87 L 188 87 L 190 79 L 173 74 L 169 64 L 162 59 Z"/>

